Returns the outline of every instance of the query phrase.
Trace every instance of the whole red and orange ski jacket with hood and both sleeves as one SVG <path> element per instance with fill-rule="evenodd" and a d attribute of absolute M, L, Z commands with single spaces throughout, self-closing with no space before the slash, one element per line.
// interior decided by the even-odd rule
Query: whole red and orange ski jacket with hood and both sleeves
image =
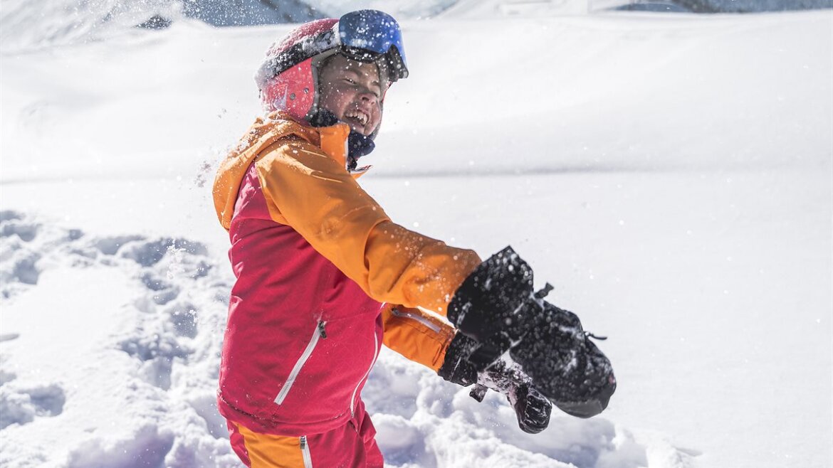
<path fill-rule="evenodd" d="M 274 112 L 217 172 L 237 276 L 218 406 L 252 430 L 312 433 L 359 417 L 381 342 L 439 369 L 455 333 L 439 315 L 480 264 L 391 222 L 347 172 L 348 133 Z"/>

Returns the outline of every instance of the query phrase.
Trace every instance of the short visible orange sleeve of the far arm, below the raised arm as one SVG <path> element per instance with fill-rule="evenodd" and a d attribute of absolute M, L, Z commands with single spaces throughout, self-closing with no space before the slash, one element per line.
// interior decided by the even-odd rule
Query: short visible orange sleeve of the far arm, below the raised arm
<path fill-rule="evenodd" d="M 455 334 L 447 321 L 419 309 L 385 304 L 382 323 L 385 346 L 433 371 L 440 369 Z"/>

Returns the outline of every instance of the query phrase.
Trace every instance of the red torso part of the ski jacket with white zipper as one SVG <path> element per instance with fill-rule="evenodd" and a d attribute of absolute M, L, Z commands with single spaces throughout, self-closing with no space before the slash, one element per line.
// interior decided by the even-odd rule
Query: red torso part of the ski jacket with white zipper
<path fill-rule="evenodd" d="M 253 166 L 229 232 L 237 282 L 220 412 L 253 431 L 286 436 L 341 426 L 382 345 L 382 304 L 292 227 L 272 221 Z"/>

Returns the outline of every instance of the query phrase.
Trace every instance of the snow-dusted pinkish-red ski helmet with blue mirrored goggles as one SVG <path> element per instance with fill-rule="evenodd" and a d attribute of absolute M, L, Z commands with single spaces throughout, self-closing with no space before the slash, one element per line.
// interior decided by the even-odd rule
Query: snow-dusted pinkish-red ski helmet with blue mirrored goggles
<path fill-rule="evenodd" d="M 335 53 L 376 62 L 389 83 L 408 76 L 397 21 L 377 10 L 349 12 L 304 23 L 269 47 L 255 74 L 263 108 L 309 121 L 318 112 L 318 68 Z"/>

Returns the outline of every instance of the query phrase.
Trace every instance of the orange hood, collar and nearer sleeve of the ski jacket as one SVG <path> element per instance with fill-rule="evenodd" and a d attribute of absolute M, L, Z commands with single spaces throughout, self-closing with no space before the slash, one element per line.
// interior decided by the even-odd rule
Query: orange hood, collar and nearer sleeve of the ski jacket
<path fill-rule="evenodd" d="M 217 172 L 220 224 L 230 227 L 237 190 L 254 161 L 274 222 L 299 232 L 373 299 L 445 316 L 480 257 L 392 222 L 347 172 L 349 132 L 344 123 L 305 127 L 283 112 L 258 118 Z"/>

